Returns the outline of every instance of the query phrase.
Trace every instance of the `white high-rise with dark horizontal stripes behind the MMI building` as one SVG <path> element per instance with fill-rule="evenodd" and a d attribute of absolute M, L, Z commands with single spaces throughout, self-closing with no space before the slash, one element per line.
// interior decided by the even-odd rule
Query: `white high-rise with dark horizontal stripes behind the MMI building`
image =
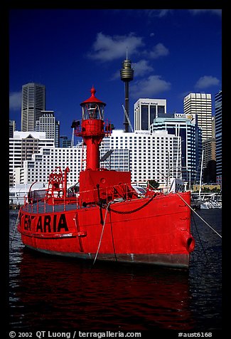
<path fill-rule="evenodd" d="M 213 137 L 211 94 L 190 93 L 183 99 L 183 113 L 196 114 L 202 130 L 202 141 Z"/>

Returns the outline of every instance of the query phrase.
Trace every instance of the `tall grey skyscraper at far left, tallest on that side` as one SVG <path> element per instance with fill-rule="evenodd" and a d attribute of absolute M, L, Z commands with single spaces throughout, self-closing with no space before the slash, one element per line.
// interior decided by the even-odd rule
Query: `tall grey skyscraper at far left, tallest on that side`
<path fill-rule="evenodd" d="M 36 120 L 45 110 L 45 85 L 27 83 L 22 88 L 21 131 L 35 131 Z"/>

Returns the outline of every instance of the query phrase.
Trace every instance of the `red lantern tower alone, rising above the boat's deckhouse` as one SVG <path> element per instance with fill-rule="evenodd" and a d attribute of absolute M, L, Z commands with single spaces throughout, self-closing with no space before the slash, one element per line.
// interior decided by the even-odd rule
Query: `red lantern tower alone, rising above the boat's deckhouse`
<path fill-rule="evenodd" d="M 100 142 L 104 132 L 104 107 L 105 103 L 95 97 L 96 90 L 92 86 L 92 95 L 80 103 L 82 106 L 82 129 L 79 133 L 87 145 L 86 170 L 97 170 L 100 167 Z"/>

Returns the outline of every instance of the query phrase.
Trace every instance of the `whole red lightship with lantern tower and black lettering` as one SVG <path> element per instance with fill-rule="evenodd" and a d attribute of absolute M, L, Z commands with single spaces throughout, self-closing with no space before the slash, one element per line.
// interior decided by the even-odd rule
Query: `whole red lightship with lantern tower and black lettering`
<path fill-rule="evenodd" d="M 21 240 L 45 254 L 79 259 L 188 268 L 195 240 L 190 234 L 190 192 L 164 194 L 147 187 L 140 196 L 131 173 L 100 168 L 100 142 L 112 127 L 95 97 L 81 104 L 75 133 L 87 146 L 79 187 L 67 188 L 69 168 L 50 174 L 48 189 L 30 191 L 18 214 Z"/>

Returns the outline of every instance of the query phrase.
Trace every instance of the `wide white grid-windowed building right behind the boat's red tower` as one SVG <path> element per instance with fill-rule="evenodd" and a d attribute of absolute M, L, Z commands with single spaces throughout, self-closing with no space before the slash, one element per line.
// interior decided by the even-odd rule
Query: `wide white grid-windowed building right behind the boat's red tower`
<path fill-rule="evenodd" d="M 131 171 L 131 181 L 136 184 L 145 185 L 154 179 L 166 187 L 170 177 L 182 178 L 178 171 L 181 168 L 181 137 L 168 134 L 166 130 L 152 133 L 113 130 L 112 135 L 104 137 L 100 149 L 104 153 L 113 150 L 107 158 L 110 169 Z M 118 152 L 124 157 L 123 168 L 119 166 L 121 155 Z M 115 168 L 112 167 L 114 162 L 117 163 Z"/>

